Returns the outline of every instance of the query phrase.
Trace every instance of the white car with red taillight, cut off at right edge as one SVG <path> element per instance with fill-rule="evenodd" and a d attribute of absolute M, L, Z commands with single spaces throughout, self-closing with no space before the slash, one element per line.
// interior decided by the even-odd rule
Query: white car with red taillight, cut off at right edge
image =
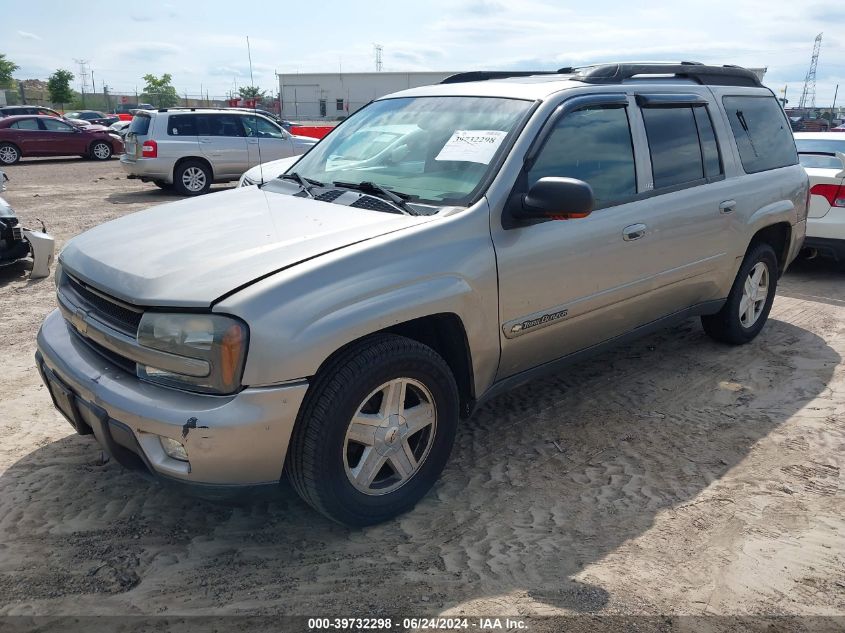
<path fill-rule="evenodd" d="M 845 262 L 845 134 L 797 132 L 798 159 L 810 177 L 804 246 Z"/>

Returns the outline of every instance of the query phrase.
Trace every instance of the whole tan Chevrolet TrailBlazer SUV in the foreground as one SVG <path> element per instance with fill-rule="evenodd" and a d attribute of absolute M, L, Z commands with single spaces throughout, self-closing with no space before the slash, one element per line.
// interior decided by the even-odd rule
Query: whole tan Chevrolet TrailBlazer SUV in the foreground
<path fill-rule="evenodd" d="M 410 509 L 504 389 L 691 316 L 752 340 L 809 195 L 771 91 L 694 63 L 456 75 L 291 161 L 71 241 L 36 359 L 121 464 L 215 490 L 285 471 L 350 525 Z"/>

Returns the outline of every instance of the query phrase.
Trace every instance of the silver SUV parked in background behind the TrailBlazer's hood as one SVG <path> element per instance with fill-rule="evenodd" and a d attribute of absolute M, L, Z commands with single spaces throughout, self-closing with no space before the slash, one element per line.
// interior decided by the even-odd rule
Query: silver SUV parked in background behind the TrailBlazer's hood
<path fill-rule="evenodd" d="M 251 112 L 170 108 L 138 112 L 125 142 L 120 163 L 129 178 L 195 196 L 261 162 L 303 154 L 317 139 Z"/>

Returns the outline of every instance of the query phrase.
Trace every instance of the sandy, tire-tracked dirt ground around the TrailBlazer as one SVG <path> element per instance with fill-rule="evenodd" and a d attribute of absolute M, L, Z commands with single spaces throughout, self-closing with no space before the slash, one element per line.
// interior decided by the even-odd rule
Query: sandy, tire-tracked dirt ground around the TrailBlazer
<path fill-rule="evenodd" d="M 175 199 L 117 161 L 24 161 L 58 238 Z M 52 279 L 0 271 L 0 615 L 845 614 L 845 272 L 804 263 L 764 333 L 697 321 L 505 395 L 417 509 L 348 530 L 283 483 L 179 496 L 71 432 L 33 366 Z"/>

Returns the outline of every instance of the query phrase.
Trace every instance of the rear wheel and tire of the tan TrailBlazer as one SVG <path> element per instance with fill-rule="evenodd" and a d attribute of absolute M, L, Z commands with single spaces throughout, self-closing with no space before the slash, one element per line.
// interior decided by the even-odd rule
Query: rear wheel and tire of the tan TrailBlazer
<path fill-rule="evenodd" d="M 755 281 L 757 275 L 759 279 Z M 743 345 L 753 340 L 769 318 L 777 278 L 778 261 L 774 249 L 763 242 L 752 244 L 742 260 L 725 305 L 716 314 L 701 317 L 704 331 L 717 341 L 731 345 Z M 765 296 L 761 298 L 763 281 L 766 289 Z"/>

